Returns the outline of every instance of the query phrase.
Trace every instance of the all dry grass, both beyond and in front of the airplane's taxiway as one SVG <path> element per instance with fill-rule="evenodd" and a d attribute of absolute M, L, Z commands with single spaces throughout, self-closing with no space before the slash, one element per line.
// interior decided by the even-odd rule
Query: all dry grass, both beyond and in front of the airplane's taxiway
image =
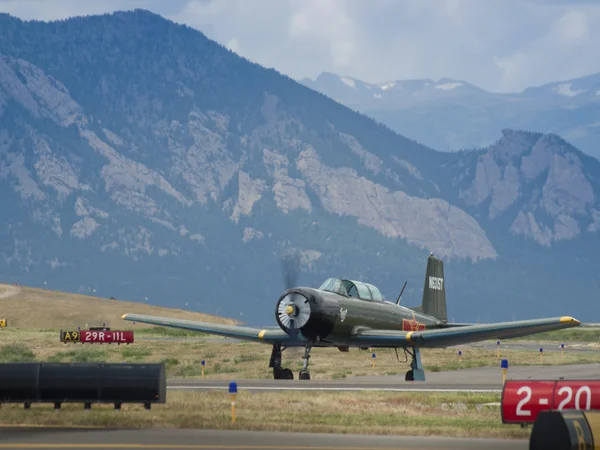
<path fill-rule="evenodd" d="M 270 347 L 260 343 L 231 342 L 214 336 L 122 321 L 124 313 L 140 313 L 207 322 L 232 320 L 200 313 L 160 308 L 134 302 L 99 299 L 41 289 L 0 285 L 0 318 L 9 326 L 0 329 L 0 362 L 158 362 L 166 364 L 169 377 L 200 377 L 202 360 L 208 379 L 267 379 Z M 107 323 L 113 329 L 135 330 L 135 343 L 126 345 L 63 344 L 60 329 L 82 328 L 85 324 Z M 597 334 L 597 331 L 592 330 Z M 569 342 L 563 333 L 544 336 L 549 341 Z M 588 339 L 582 339 L 588 340 Z M 592 339 L 589 339 L 592 341 Z M 495 349 L 458 348 L 423 350 L 427 371 L 478 366 L 499 366 Z M 311 358 L 313 379 L 342 379 L 360 375 L 404 374 L 408 362 L 396 360 L 390 350 L 371 352 L 351 349 L 314 349 Z M 302 366 L 302 351 L 284 352 L 284 365 L 296 375 Z M 501 357 L 511 365 L 540 364 L 536 351 L 511 349 L 503 343 Z M 544 354 L 543 364 L 600 362 L 596 352 Z M 501 384 L 498 370 L 498 387 Z M 124 405 L 121 413 L 110 406 L 94 405 L 83 413 L 82 405 L 63 405 L 60 414 L 51 405 L 2 405 L 0 425 L 43 424 L 101 427 L 202 427 L 246 430 L 294 430 L 352 432 L 365 434 L 411 434 L 472 437 L 526 438 L 529 430 L 501 423 L 499 394 L 386 393 L 386 392 L 240 392 L 237 422 L 231 423 L 230 399 L 225 392 L 169 391 L 167 404 L 145 411 L 138 405 Z M 490 405 L 491 403 L 491 405 Z M 494 404 L 495 403 L 495 404 Z"/>

